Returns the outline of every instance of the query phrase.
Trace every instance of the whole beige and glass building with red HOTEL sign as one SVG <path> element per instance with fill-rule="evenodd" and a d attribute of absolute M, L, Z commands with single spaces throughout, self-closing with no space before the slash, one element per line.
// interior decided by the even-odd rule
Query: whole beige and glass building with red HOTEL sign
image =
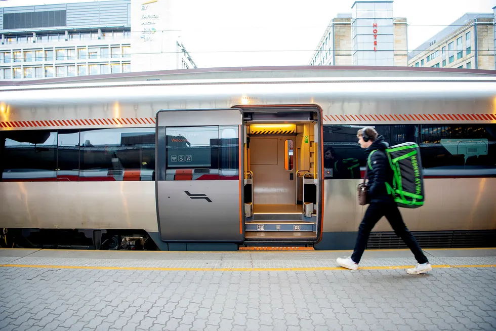
<path fill-rule="evenodd" d="M 392 1 L 357 1 L 351 14 L 328 25 L 310 65 L 406 66 L 406 18 L 393 16 Z"/>

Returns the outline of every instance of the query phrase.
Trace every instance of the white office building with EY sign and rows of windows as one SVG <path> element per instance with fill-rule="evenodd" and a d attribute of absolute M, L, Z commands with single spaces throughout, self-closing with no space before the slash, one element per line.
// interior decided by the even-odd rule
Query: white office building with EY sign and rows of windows
<path fill-rule="evenodd" d="M 164 0 L 0 8 L 0 79 L 194 68 L 162 23 L 172 11 Z"/>

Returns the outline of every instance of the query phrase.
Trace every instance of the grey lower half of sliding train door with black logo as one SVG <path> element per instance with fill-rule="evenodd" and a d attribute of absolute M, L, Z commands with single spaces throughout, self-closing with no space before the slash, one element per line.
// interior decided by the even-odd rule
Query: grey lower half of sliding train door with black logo
<path fill-rule="evenodd" d="M 242 241 L 239 181 L 159 181 L 164 241 Z"/>

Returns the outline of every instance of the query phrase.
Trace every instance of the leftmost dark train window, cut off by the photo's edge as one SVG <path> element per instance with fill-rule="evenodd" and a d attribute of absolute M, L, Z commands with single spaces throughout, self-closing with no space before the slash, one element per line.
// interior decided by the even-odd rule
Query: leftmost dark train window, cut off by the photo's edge
<path fill-rule="evenodd" d="M 0 141 L 2 181 L 55 181 L 57 132 L 3 132 Z"/>

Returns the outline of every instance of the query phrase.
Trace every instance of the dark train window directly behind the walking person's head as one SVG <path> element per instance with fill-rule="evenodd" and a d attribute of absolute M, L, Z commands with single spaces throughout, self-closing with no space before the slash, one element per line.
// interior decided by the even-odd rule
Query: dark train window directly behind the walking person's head
<path fill-rule="evenodd" d="M 383 135 L 390 146 L 404 142 L 418 142 L 418 127 L 414 125 L 371 126 Z M 361 178 L 365 167 L 365 152 L 358 144 L 359 126 L 324 126 L 324 168 L 332 170 L 333 179 Z M 326 178 L 329 178 L 326 176 Z"/>

